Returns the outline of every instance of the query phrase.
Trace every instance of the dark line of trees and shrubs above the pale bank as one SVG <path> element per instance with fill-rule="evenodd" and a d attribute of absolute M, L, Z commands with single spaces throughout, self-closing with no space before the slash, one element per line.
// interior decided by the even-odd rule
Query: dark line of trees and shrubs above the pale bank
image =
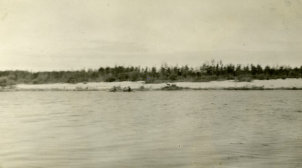
<path fill-rule="evenodd" d="M 301 78 L 301 67 L 264 66 L 226 64 L 211 60 L 198 67 L 169 66 L 163 63 L 161 67 L 114 66 L 100 67 L 79 71 L 0 71 L 0 81 L 14 83 L 78 83 L 78 82 L 113 82 L 113 81 L 146 81 L 159 82 L 207 82 L 213 80 L 251 81 L 253 79 L 268 80 L 278 78 Z M 3 82 L 2 82 L 3 83 Z"/>

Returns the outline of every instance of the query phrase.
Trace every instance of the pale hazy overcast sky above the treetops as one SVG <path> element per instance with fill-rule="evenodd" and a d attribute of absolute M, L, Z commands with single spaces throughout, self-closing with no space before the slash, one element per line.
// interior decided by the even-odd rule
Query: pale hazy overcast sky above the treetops
<path fill-rule="evenodd" d="M 302 65 L 302 0 L 0 0 L 0 70 Z"/>

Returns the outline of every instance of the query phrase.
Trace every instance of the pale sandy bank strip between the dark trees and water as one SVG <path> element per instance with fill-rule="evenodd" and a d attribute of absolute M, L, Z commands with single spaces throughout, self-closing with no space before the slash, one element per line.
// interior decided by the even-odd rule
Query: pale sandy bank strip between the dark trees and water
<path fill-rule="evenodd" d="M 275 79 L 275 80 L 254 80 L 252 82 L 235 82 L 234 80 L 227 81 L 212 81 L 212 82 L 178 82 L 176 84 L 179 90 L 264 90 L 273 89 L 302 89 L 302 79 Z M 18 84 L 12 89 L 2 89 L 2 91 L 105 91 L 115 87 L 128 87 L 136 90 L 161 90 L 166 87 L 165 83 L 145 84 L 144 81 L 139 82 L 92 82 L 92 83 L 55 83 L 55 84 Z"/>

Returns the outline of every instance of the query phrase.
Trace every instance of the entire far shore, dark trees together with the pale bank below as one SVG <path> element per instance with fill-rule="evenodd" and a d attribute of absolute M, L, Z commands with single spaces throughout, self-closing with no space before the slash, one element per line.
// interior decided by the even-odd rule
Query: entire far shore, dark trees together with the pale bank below
<path fill-rule="evenodd" d="M 0 87 L 1 91 L 82 91 L 104 90 L 114 85 L 127 87 L 124 83 L 128 82 L 128 85 L 134 85 L 132 88 L 137 90 L 271 90 L 301 89 L 301 77 L 302 66 L 298 68 L 284 65 L 273 67 L 253 64 L 224 65 L 222 61 L 211 60 L 194 68 L 188 65 L 178 67 L 163 63 L 160 68 L 114 66 L 80 71 L 0 71 Z M 282 83 L 282 80 L 288 84 L 275 87 L 277 83 Z M 263 81 L 262 85 L 256 81 Z M 268 81 L 274 81 L 274 84 L 267 84 L 271 83 Z M 216 87 L 215 82 L 220 82 L 221 86 Z M 168 86 L 166 83 L 174 83 L 174 85 Z M 194 83 L 208 83 L 209 86 L 196 88 L 192 87 Z M 158 84 L 161 87 L 158 88 Z"/>

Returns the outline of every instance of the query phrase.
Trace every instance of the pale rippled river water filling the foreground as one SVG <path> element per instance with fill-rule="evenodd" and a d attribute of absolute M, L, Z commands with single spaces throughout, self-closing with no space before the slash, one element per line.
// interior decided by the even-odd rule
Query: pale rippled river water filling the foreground
<path fill-rule="evenodd" d="M 1 168 L 302 168 L 302 91 L 0 95 Z"/>

